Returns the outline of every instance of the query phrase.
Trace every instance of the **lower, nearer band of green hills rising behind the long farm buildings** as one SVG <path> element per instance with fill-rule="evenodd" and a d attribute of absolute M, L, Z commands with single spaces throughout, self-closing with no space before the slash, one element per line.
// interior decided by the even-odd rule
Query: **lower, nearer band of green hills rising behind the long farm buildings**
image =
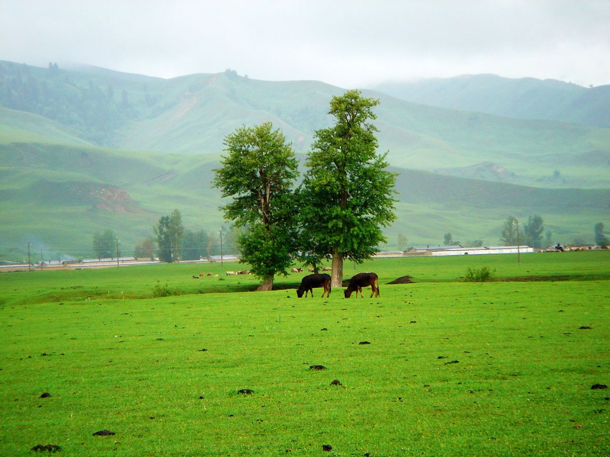
<path fill-rule="evenodd" d="M 187 228 L 215 232 L 223 224 L 220 193 L 210 188 L 218 158 L 0 144 L 0 258 L 21 260 L 28 242 L 37 252 L 87 257 L 93 235 L 106 228 L 120 238 L 121 252 L 131 254 L 173 208 Z M 558 236 L 553 242 L 592 239 L 610 202 L 609 190 L 531 188 L 392 170 L 398 173 L 399 201 L 398 220 L 386 232 L 388 249 L 396 249 L 399 232 L 415 244 L 440 244 L 447 232 L 463 242 L 497 244 L 511 214 L 523 221 L 540 214 Z"/>

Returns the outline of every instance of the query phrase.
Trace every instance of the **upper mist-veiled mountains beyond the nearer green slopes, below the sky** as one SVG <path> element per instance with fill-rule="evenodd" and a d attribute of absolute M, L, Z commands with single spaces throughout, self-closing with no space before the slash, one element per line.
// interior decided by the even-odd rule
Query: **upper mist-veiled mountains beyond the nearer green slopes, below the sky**
<path fill-rule="evenodd" d="M 458 85 L 459 80 L 453 83 Z M 511 97 L 519 98 L 515 93 L 520 91 L 531 104 L 502 112 L 515 117 L 542 116 L 543 100 L 548 102 L 545 110 L 554 107 L 556 112 L 558 104 L 570 113 L 595 113 L 597 119 L 610 112 L 605 98 L 594 94 L 602 94 L 603 87 L 589 90 L 533 79 L 523 85 L 499 90 L 495 79 L 479 77 L 467 79 L 462 91 L 451 86 L 439 93 L 447 100 L 451 100 L 448 93 L 461 94 L 459 100 L 471 101 L 474 109 L 476 100 L 506 107 Z M 264 121 L 281 128 L 296 151 L 306 152 L 315 130 L 330 122 L 329 100 L 343 91 L 315 81 L 253 80 L 230 70 L 166 80 L 90 66 L 67 70 L 0 62 L 0 105 L 46 116 L 96 146 L 176 154 L 218 154 L 227 133 Z M 472 177 L 469 167 L 490 162 L 508 173 L 479 178 L 565 188 L 610 185 L 610 129 L 565 119 L 531 121 L 473 113 L 459 102 L 449 106 L 459 110 L 426 106 L 423 103 L 434 102 L 428 100 L 434 90 L 422 91 L 420 103 L 364 91 L 381 99 L 376 109 L 379 146 L 389 151 L 392 165 Z M 0 118 L 0 126 L 6 129 L 7 125 L 14 122 Z M 44 130 L 18 127 L 32 133 Z M 555 171 L 561 179 L 551 179 Z"/>

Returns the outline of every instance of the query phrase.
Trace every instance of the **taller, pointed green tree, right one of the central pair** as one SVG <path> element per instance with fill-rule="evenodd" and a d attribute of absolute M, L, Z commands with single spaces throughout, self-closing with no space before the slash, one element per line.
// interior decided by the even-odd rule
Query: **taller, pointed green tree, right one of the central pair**
<path fill-rule="evenodd" d="M 315 132 L 303 180 L 301 249 L 332 257 L 332 286 L 343 280 L 343 259 L 361 263 L 386 241 L 380 225 L 395 219 L 395 174 L 386 170 L 371 124 L 379 100 L 349 90 L 332 97 L 334 125 Z"/>

